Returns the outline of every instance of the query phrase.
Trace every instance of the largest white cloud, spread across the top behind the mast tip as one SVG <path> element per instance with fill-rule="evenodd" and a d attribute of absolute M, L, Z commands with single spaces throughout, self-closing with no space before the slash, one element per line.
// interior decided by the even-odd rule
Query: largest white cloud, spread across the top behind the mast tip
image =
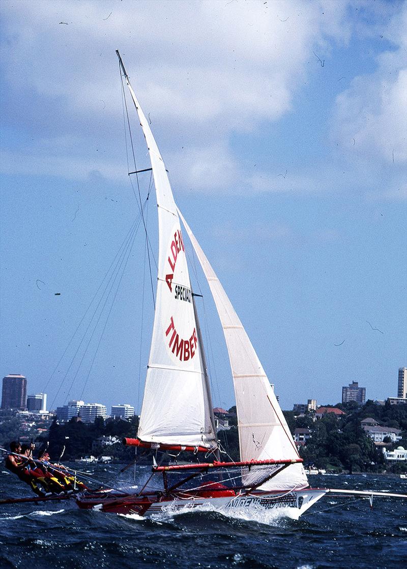
<path fill-rule="evenodd" d="M 345 2 L 31 0 L 2 11 L 13 44 L 5 73 L 15 87 L 23 82 L 44 96 L 64 96 L 71 110 L 93 114 L 94 100 L 109 100 L 117 84 L 110 76 L 120 47 L 140 99 L 156 116 L 221 119 L 225 130 L 281 116 L 312 46 L 325 34 L 347 35 Z"/>

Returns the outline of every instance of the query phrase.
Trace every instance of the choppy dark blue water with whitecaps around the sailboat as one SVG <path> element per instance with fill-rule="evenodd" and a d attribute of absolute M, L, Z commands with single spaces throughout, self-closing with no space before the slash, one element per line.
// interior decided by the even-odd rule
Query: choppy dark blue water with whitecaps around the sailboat
<path fill-rule="evenodd" d="M 84 468 L 82 466 L 82 468 Z M 115 483 L 117 466 L 85 467 Z M 407 480 L 310 476 L 313 486 L 407 493 Z M 0 467 L 0 498 L 28 486 Z M 143 519 L 78 510 L 74 502 L 0 505 L 0 567 L 225 569 L 407 566 L 407 502 L 325 497 L 299 521 L 214 511 Z M 338 507 L 342 504 L 342 507 Z"/>

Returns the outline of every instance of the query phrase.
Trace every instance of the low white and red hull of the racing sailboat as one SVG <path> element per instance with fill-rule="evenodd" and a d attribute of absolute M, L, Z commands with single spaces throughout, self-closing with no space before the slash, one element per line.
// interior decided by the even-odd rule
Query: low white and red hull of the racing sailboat
<path fill-rule="evenodd" d="M 177 513 L 193 509 L 214 509 L 225 514 L 264 512 L 276 517 L 298 519 L 326 494 L 323 488 L 307 488 L 292 492 L 263 492 L 256 490 L 250 493 L 238 493 L 234 490 L 224 492 L 201 492 L 188 494 L 174 493 L 171 497 L 160 494 L 127 494 L 117 496 L 106 493 L 84 493 L 77 498 L 82 509 L 93 509 L 107 513 L 138 514 L 151 517 L 154 514 Z"/>

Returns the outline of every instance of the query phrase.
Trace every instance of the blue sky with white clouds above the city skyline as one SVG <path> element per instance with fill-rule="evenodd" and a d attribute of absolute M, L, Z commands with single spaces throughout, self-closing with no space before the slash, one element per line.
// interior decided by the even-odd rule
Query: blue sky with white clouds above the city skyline
<path fill-rule="evenodd" d="M 176 201 L 283 409 L 338 402 L 351 381 L 368 398 L 397 394 L 405 2 L 6 0 L 0 10 L 1 376 L 26 375 L 30 392 L 49 380 L 55 405 L 82 392 L 109 408 L 140 403 L 152 320 L 141 231 L 98 349 L 95 333 L 83 369 L 70 366 L 69 340 L 138 212 L 118 48 Z M 134 115 L 132 132 L 148 167 Z M 198 280 L 214 403 L 229 407 L 227 354 Z"/>

